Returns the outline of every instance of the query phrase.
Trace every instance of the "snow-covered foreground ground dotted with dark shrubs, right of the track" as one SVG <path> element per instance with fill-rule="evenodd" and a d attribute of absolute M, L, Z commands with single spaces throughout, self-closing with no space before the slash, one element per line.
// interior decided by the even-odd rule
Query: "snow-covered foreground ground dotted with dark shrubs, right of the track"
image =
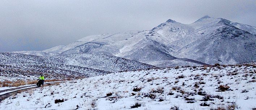
<path fill-rule="evenodd" d="M 255 110 L 255 77 L 256 66 L 116 72 L 18 93 L 0 109 Z"/>

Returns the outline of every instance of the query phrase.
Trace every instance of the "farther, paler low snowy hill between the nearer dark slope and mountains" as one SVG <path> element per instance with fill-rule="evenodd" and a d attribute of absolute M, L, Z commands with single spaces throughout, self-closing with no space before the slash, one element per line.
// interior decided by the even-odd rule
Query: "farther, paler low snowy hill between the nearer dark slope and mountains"
<path fill-rule="evenodd" d="M 23 65 L 27 63 L 59 64 L 81 66 L 110 72 L 154 68 L 154 66 L 145 63 L 92 53 L 68 54 L 63 56 L 31 56 L 17 53 L 0 53 L 0 61 L 2 65 Z"/>

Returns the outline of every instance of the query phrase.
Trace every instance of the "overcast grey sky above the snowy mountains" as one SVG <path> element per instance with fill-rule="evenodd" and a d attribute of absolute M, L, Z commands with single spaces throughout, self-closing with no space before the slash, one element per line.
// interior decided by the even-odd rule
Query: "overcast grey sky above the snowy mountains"
<path fill-rule="evenodd" d="M 256 26 L 256 0 L 0 0 L 0 52 L 44 50 L 88 35 L 150 30 L 208 15 Z"/>

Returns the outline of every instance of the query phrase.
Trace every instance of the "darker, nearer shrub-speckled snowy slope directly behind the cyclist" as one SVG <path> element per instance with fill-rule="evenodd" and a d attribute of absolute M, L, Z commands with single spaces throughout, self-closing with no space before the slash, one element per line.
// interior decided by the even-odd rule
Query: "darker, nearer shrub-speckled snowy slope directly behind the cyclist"
<path fill-rule="evenodd" d="M 111 72 L 90 69 L 81 66 L 42 64 L 42 63 L 20 63 L 17 65 L 0 64 L 0 82 L 16 80 L 37 80 L 43 74 L 47 80 L 69 80 L 88 78 Z"/>

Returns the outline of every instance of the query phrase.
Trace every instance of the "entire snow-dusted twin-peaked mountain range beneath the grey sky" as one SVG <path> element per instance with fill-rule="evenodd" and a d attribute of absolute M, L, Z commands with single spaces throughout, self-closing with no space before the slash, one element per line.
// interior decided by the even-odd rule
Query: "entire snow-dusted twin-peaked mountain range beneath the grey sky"
<path fill-rule="evenodd" d="M 256 60 L 256 27 L 204 16 L 185 25 L 168 19 L 147 31 L 87 36 L 44 52 L 100 53 L 158 67 Z"/>

